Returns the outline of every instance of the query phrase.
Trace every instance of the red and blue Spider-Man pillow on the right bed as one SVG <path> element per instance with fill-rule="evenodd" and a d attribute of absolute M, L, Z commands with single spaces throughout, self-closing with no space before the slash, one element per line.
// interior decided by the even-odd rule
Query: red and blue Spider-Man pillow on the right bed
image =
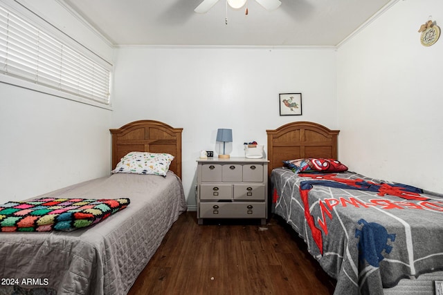
<path fill-rule="evenodd" d="M 284 166 L 291 169 L 294 173 L 308 172 L 345 172 L 347 166 L 341 164 L 335 159 L 309 158 L 283 161 Z"/>

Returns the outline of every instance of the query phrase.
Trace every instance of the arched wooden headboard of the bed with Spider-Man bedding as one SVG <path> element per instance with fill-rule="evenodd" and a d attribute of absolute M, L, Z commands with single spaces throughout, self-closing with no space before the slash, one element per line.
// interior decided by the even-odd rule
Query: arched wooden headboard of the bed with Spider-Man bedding
<path fill-rule="evenodd" d="M 268 175 L 274 168 L 283 166 L 283 160 L 300 158 L 337 159 L 339 130 L 330 130 L 314 122 L 292 122 L 268 135 Z"/>

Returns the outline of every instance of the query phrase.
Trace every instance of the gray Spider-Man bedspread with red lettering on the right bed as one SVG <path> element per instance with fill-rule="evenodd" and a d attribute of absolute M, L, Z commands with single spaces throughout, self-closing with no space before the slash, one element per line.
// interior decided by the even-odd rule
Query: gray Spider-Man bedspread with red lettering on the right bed
<path fill-rule="evenodd" d="M 443 196 L 352 172 L 274 169 L 273 211 L 337 279 L 334 294 L 383 294 L 443 269 Z"/>

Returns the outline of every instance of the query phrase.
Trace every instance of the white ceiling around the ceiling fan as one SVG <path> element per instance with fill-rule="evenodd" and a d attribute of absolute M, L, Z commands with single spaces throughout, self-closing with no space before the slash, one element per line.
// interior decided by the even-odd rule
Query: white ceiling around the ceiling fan
<path fill-rule="evenodd" d="M 267 11 L 255 0 L 228 8 L 219 0 L 59 0 L 112 44 L 150 46 L 336 46 L 392 0 L 280 0 Z"/>

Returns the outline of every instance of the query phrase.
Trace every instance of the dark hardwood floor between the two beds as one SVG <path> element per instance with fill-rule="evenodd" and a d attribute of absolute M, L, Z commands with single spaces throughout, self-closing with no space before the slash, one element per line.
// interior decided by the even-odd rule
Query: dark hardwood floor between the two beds
<path fill-rule="evenodd" d="M 145 294 L 332 294 L 335 282 L 278 219 L 183 213 L 129 291 Z"/>

